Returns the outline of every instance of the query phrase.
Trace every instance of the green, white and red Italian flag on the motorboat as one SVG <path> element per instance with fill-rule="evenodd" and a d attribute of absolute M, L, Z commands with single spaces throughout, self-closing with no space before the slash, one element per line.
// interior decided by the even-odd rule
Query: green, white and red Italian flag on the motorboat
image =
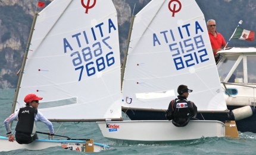
<path fill-rule="evenodd" d="M 233 35 L 232 38 L 254 41 L 254 37 L 255 37 L 254 31 L 248 31 L 243 29 L 242 27 L 238 27 L 236 28 L 235 34 Z"/>

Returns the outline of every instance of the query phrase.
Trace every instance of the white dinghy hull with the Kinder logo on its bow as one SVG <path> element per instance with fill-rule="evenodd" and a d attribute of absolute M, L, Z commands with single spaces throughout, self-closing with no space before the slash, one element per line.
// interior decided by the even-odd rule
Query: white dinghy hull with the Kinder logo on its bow
<path fill-rule="evenodd" d="M 185 127 L 175 127 L 171 121 L 115 121 L 97 124 L 104 137 L 114 140 L 176 141 L 225 136 L 225 127 L 220 121 L 190 121 Z"/>

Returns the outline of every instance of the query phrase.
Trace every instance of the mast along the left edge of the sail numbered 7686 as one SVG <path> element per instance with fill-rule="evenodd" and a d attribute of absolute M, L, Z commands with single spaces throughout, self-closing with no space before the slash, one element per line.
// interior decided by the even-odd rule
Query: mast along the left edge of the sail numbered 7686
<path fill-rule="evenodd" d="M 23 72 L 24 72 L 24 67 L 25 67 L 26 60 L 27 60 L 27 54 L 29 53 L 30 41 L 31 41 L 31 38 L 32 38 L 32 35 L 33 35 L 33 31 L 34 31 L 34 28 L 35 28 L 37 17 L 38 17 L 38 13 L 35 14 L 35 16 L 33 18 L 33 22 L 32 22 L 32 27 L 30 29 L 29 40 L 27 41 L 27 46 L 26 46 L 25 54 L 24 54 L 24 57 L 23 57 L 23 62 L 22 62 L 21 69 L 20 69 L 20 75 L 18 76 L 17 88 L 15 90 L 13 106 L 12 106 L 12 109 L 11 109 L 12 114 L 15 111 L 15 105 L 17 103 L 17 98 L 18 98 L 18 92 L 20 91 L 20 83 L 21 83 L 21 79 L 22 79 Z"/>

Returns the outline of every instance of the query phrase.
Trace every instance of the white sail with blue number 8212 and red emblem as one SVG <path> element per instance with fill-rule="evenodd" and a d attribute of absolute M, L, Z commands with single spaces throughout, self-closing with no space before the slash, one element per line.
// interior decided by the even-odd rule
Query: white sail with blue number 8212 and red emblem
<path fill-rule="evenodd" d="M 227 109 L 204 14 L 193 0 L 151 1 L 133 22 L 123 108 L 167 109 L 179 85 L 198 111 Z"/>

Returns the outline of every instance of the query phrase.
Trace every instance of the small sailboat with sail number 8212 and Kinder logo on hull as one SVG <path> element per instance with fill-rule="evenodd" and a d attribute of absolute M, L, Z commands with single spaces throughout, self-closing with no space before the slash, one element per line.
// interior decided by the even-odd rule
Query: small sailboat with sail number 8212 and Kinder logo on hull
<path fill-rule="evenodd" d="M 193 140 L 224 137 L 229 131 L 225 127 L 236 128 L 235 122 L 224 125 L 217 120 L 194 120 L 178 128 L 165 117 L 179 85 L 193 89 L 189 100 L 198 111 L 227 113 L 204 14 L 196 2 L 152 0 L 131 23 L 121 91 L 122 110 L 132 121 L 97 122 L 104 137 L 143 142 Z"/>

